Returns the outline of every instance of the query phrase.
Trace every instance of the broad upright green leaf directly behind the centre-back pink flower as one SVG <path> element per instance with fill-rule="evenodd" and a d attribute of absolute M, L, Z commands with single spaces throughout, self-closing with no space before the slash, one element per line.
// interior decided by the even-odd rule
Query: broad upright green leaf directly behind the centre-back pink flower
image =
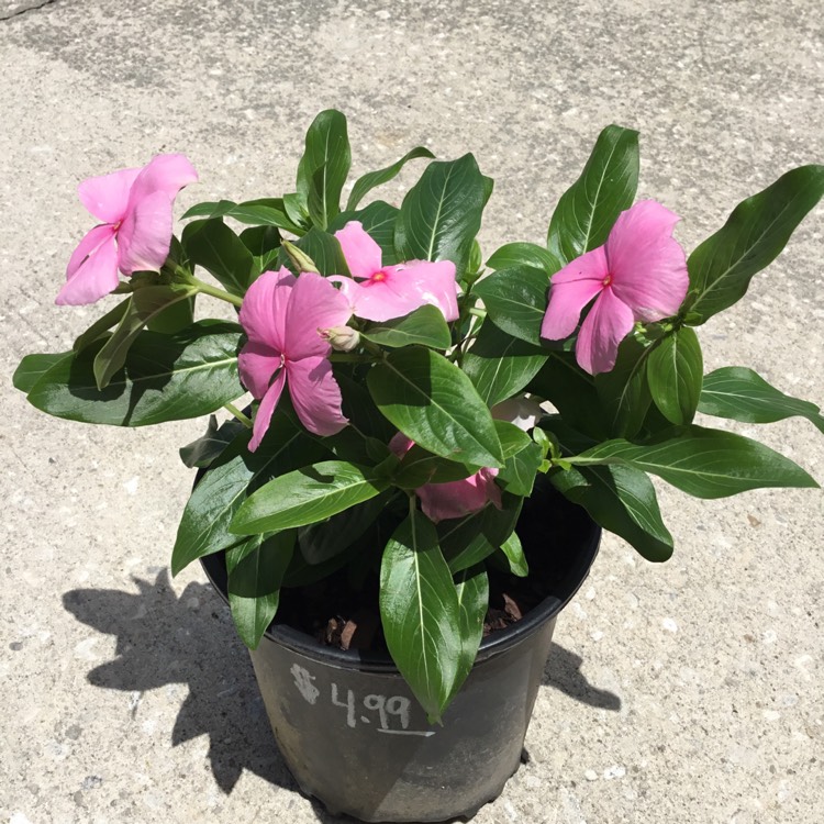
<path fill-rule="evenodd" d="M 431 163 L 401 204 L 394 244 L 403 260 L 452 260 L 466 268 L 480 230 L 487 185 L 471 155 Z"/>

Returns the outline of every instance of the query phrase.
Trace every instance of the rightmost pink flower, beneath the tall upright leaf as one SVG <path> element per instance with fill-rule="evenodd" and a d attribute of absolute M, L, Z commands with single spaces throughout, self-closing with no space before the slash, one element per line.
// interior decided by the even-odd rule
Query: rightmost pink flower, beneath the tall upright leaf
<path fill-rule="evenodd" d="M 654 200 L 622 212 L 603 246 L 553 276 L 541 336 L 571 335 L 581 310 L 595 298 L 578 333 L 576 357 L 590 375 L 610 371 L 635 322 L 676 314 L 687 294 L 687 258 L 672 237 L 679 220 Z"/>

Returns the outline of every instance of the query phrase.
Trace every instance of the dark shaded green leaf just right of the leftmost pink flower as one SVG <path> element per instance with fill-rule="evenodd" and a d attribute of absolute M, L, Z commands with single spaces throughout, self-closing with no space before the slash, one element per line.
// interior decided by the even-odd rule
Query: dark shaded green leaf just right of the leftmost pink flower
<path fill-rule="evenodd" d="M 189 261 L 204 268 L 232 294 L 243 297 L 260 274 L 253 254 L 220 218 L 189 223 L 180 243 Z"/>

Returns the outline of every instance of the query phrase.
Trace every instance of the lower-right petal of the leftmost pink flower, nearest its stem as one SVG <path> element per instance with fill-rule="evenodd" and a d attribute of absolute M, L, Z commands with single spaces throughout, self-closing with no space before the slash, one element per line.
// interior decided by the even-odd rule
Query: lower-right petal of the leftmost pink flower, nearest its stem
<path fill-rule="evenodd" d="M 118 263 L 124 275 L 159 271 L 171 244 L 171 200 L 157 191 L 130 208 L 118 231 Z"/>

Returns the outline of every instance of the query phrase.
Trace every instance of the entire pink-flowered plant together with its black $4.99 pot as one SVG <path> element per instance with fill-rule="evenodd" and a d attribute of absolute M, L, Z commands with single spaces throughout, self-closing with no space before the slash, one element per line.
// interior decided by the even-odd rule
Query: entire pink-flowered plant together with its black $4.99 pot
<path fill-rule="evenodd" d="M 416 158 L 433 155 L 363 175 L 342 208 L 346 121 L 324 111 L 296 191 L 200 203 L 179 237 L 182 155 L 83 181 L 100 223 L 57 302 L 113 307 L 14 376 L 86 423 L 230 413 L 181 449 L 199 480 L 172 571 L 201 559 L 227 600 L 301 787 L 368 821 L 500 792 L 600 527 L 672 553 L 650 474 L 700 498 L 816 486 L 697 412 L 824 431 L 745 367 L 704 375 L 695 333 L 783 248 L 824 167 L 745 200 L 688 257 L 679 218 L 635 202 L 637 133 L 608 126 L 546 244 L 485 264 L 492 180 L 471 155 L 431 162 L 400 205 L 364 204 Z M 208 300 L 233 320 L 200 318 Z"/>

